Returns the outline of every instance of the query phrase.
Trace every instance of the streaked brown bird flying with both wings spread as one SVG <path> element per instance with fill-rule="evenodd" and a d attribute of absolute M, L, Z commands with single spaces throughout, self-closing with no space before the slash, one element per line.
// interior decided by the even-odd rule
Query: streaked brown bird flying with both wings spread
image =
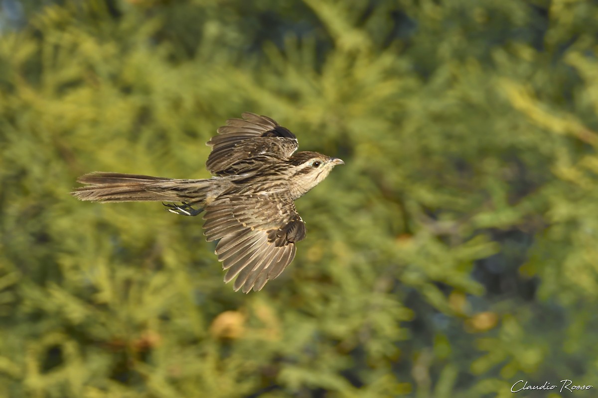
<path fill-rule="evenodd" d="M 291 263 L 295 245 L 306 237 L 295 200 L 344 162 L 296 152 L 295 134 L 255 113 L 228 119 L 217 133 L 206 143 L 210 178 L 90 172 L 77 179 L 86 185 L 71 195 L 92 202 L 158 201 L 174 214 L 203 213 L 206 240 L 218 241 L 215 254 L 226 270 L 224 282 L 236 278 L 234 291 L 260 291 Z"/>

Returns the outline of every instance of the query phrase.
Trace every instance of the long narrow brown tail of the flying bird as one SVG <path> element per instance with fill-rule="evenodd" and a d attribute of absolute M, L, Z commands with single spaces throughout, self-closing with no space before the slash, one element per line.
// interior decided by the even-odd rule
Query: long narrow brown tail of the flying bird
<path fill-rule="evenodd" d="M 193 202 L 205 203 L 212 191 L 212 180 L 175 180 L 174 178 L 114 172 L 81 175 L 71 195 L 92 202 Z"/>

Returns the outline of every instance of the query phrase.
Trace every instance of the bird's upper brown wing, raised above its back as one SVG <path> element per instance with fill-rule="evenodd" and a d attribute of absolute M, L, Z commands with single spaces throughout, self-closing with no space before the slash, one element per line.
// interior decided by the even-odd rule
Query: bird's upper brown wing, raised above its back
<path fill-rule="evenodd" d="M 288 158 L 298 148 L 297 137 L 267 116 L 243 113 L 243 119 L 228 119 L 227 125 L 218 128 L 208 146 L 212 152 L 206 168 L 212 174 L 228 174 L 227 169 L 236 162 L 256 155 L 271 153 Z"/>

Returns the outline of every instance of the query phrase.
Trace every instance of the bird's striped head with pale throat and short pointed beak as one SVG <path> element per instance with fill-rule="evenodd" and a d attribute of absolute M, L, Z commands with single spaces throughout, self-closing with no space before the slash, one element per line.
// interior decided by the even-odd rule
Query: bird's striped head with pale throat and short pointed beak
<path fill-rule="evenodd" d="M 291 174 L 291 190 L 293 196 L 299 198 L 328 177 L 336 165 L 344 165 L 338 158 L 322 155 L 318 152 L 297 152 L 289 159 Z"/>

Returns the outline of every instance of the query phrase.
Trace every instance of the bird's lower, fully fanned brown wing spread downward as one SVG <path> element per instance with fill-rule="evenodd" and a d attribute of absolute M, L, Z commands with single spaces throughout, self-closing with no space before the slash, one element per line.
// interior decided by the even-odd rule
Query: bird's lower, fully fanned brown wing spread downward
<path fill-rule="evenodd" d="M 224 282 L 235 276 L 234 289 L 258 291 L 295 257 L 295 242 L 306 228 L 286 191 L 222 195 L 206 208 L 203 228 L 216 245 L 218 261 L 228 270 Z"/>

